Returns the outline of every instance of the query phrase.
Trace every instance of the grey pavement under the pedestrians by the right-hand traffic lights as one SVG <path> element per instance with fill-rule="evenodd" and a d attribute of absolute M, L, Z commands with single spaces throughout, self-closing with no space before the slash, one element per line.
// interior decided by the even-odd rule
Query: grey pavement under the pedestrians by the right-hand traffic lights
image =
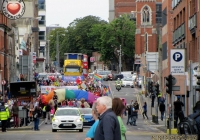
<path fill-rule="evenodd" d="M 160 111 L 158 109 L 158 124 L 152 122 L 152 115 L 156 114 L 156 107 L 157 107 L 157 99 L 154 101 L 154 108 L 151 108 L 151 98 L 149 97 L 145 97 L 144 94 L 139 94 L 139 99 L 140 99 L 140 107 L 142 108 L 143 103 L 146 102 L 147 103 L 147 116 L 148 116 L 148 120 L 147 122 L 149 123 L 149 125 L 155 126 L 157 129 L 163 131 L 163 132 L 167 132 L 167 120 L 165 120 L 165 116 L 164 116 L 164 120 L 161 121 L 160 119 Z M 143 109 L 142 109 L 143 110 Z"/>

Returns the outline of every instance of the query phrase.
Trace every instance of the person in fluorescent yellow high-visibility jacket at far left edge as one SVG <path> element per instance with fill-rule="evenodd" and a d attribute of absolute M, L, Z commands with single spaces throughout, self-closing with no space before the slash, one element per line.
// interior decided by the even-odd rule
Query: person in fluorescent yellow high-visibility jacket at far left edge
<path fill-rule="evenodd" d="M 1 131 L 6 132 L 7 120 L 10 116 L 8 108 L 4 106 L 4 102 L 0 102 L 0 121 L 1 121 Z"/>

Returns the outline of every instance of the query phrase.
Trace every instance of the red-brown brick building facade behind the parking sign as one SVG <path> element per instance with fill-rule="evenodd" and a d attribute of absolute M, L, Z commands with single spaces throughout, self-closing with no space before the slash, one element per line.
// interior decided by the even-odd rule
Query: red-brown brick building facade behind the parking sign
<path fill-rule="evenodd" d="M 200 62 L 200 1 L 164 0 L 162 4 L 165 21 L 162 26 L 163 77 L 171 73 L 170 50 L 184 50 L 185 75 L 174 75 L 177 79 L 176 86 L 180 86 L 180 91 L 174 91 L 174 95 L 181 95 L 186 106 L 185 114 L 188 115 L 192 113 L 192 108 L 200 97 L 195 90 L 197 79 L 194 74 L 198 74 Z"/>

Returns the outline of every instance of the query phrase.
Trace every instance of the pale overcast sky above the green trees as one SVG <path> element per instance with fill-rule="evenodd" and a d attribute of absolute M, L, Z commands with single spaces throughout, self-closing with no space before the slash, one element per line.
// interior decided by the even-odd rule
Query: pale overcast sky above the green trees
<path fill-rule="evenodd" d="M 109 0 L 46 0 L 46 26 L 67 27 L 74 19 L 88 15 L 108 21 Z"/>

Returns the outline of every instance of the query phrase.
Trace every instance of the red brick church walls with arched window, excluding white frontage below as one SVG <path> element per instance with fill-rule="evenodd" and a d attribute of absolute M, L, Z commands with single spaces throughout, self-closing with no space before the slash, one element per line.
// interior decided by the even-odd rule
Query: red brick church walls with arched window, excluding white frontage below
<path fill-rule="evenodd" d="M 162 22 L 161 0 L 115 0 L 115 17 L 126 13 L 130 14 L 136 22 L 135 33 L 135 71 L 143 62 L 142 56 L 146 52 L 157 52 L 158 32 L 157 29 Z M 145 59 L 144 59 L 145 60 Z M 141 65 L 142 64 L 142 65 Z M 140 74 L 144 73 L 140 69 Z M 144 75 L 143 75 L 144 76 Z"/>

